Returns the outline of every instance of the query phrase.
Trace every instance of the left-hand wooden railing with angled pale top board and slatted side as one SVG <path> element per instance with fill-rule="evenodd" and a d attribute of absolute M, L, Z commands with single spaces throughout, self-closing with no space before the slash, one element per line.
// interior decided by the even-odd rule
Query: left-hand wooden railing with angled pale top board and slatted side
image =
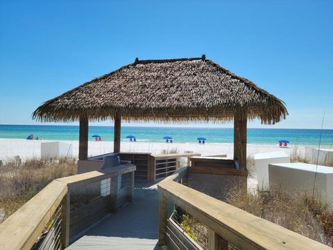
<path fill-rule="evenodd" d="M 128 164 L 52 181 L 0 224 L 0 249 L 65 249 L 133 199 L 134 171 Z"/>

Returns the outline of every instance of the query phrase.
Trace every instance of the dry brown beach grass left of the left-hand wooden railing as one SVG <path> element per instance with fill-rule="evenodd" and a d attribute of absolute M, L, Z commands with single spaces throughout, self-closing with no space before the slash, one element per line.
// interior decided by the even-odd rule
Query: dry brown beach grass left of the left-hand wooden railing
<path fill-rule="evenodd" d="M 13 158 L 0 167 L 0 222 L 15 213 L 56 178 L 76 174 L 76 160 Z M 2 219 L 1 219 L 2 217 Z"/>

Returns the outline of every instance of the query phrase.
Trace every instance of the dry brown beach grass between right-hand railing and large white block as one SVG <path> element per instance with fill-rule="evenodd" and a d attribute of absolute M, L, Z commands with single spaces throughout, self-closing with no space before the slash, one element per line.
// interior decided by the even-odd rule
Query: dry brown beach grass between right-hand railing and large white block
<path fill-rule="evenodd" d="M 333 212 L 329 203 L 307 192 L 299 190 L 290 193 L 280 188 L 251 193 L 239 186 L 228 190 L 226 202 L 307 238 L 333 246 Z"/>

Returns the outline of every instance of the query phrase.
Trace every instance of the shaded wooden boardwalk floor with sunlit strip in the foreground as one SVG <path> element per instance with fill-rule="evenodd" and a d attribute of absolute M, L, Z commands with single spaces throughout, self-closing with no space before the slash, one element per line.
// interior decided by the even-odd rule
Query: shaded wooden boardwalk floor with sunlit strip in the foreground
<path fill-rule="evenodd" d="M 157 247 L 158 192 L 156 185 L 135 186 L 133 203 L 89 228 L 67 249 L 161 249 Z"/>

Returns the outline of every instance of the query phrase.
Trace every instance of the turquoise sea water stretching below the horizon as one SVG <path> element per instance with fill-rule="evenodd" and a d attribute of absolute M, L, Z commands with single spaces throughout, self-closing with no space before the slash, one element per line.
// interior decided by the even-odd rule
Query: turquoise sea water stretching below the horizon
<path fill-rule="evenodd" d="M 44 140 L 78 140 L 78 126 L 51 125 L 0 125 L 0 138 L 26 139 L 33 133 L 34 137 Z M 99 134 L 103 140 L 113 140 L 112 126 L 89 126 L 89 140 L 92 135 Z M 248 128 L 248 143 L 277 144 L 287 139 L 291 144 L 318 145 L 320 129 L 278 129 Z M 171 135 L 173 142 L 196 142 L 203 136 L 207 142 L 232 143 L 233 128 L 170 128 L 170 127 L 121 127 L 121 139 L 126 135 L 135 135 L 138 141 L 162 142 L 164 135 Z M 333 129 L 323 130 L 322 145 L 333 144 Z"/>

